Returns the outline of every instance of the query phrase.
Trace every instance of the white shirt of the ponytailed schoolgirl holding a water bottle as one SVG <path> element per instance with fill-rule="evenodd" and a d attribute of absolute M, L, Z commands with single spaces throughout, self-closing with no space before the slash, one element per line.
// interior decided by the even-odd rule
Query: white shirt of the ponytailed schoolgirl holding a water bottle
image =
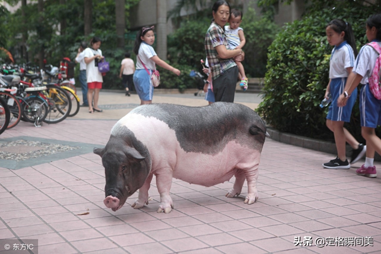
<path fill-rule="evenodd" d="M 348 77 L 347 68 L 353 67 L 355 54 L 351 45 L 346 41 L 335 46 L 330 59 L 330 79 Z"/>

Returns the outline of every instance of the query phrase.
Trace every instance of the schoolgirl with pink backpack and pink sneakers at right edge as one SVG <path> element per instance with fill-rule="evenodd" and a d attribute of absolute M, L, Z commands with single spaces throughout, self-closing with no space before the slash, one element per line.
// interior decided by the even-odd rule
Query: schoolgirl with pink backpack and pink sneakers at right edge
<path fill-rule="evenodd" d="M 379 52 L 381 47 L 381 14 L 367 19 L 366 35 L 370 43 L 364 45 L 356 58 L 352 73 L 349 75 L 344 92 L 337 100 L 338 106 L 345 106 L 354 89 L 362 84 L 360 92 L 361 135 L 367 141 L 365 164 L 356 170 L 356 174 L 376 177 L 373 165 L 375 151 L 381 154 L 381 139 L 375 129 L 381 125 L 381 94 L 379 91 Z M 375 82 L 376 80 L 376 82 Z"/>

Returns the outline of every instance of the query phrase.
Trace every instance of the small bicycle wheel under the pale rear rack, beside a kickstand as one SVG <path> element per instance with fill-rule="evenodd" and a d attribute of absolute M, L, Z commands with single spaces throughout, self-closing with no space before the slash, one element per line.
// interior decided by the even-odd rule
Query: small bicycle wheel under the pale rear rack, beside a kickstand
<path fill-rule="evenodd" d="M 30 96 L 22 103 L 22 119 L 27 122 L 42 122 L 48 115 L 47 102 L 39 97 Z"/>

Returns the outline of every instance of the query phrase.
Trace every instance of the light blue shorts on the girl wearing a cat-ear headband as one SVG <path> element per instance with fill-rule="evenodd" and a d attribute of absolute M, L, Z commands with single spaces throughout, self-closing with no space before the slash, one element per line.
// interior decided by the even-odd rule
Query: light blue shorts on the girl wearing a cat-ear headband
<path fill-rule="evenodd" d="M 150 74 L 152 71 L 149 70 Z M 151 77 L 145 69 L 138 69 L 134 72 L 135 90 L 142 101 L 152 101 L 154 95 L 154 86 L 151 82 Z"/>

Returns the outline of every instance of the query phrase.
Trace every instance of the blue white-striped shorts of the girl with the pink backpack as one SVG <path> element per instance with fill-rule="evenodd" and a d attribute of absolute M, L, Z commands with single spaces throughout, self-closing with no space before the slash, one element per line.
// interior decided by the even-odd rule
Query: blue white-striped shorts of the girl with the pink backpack
<path fill-rule="evenodd" d="M 369 84 L 363 85 L 360 92 L 360 125 L 376 128 L 381 125 L 381 100 L 370 92 Z"/>

